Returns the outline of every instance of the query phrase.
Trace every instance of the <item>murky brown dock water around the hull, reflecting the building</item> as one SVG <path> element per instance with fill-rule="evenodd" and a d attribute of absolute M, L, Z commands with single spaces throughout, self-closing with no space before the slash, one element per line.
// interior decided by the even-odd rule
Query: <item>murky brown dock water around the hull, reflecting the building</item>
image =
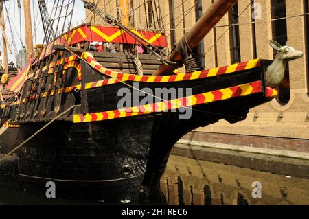
<path fill-rule="evenodd" d="M 306 162 L 305 162 L 306 163 Z M 253 182 L 262 185 L 253 198 Z M 161 178 L 170 205 L 309 205 L 309 179 L 172 155 Z M 48 199 L 0 186 L 0 205 L 104 205 Z"/>

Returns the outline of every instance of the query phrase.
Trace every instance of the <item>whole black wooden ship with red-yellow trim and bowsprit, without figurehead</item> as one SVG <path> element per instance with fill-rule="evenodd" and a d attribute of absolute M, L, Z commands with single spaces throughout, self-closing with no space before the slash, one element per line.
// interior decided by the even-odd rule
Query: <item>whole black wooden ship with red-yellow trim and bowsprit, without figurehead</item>
<path fill-rule="evenodd" d="M 198 43 L 235 2 L 214 1 L 168 55 L 164 32 L 130 28 L 84 1 L 106 25 L 36 47 L 8 84 L 21 94 L 1 105 L 0 184 L 45 194 L 54 181 L 62 197 L 164 203 L 159 180 L 183 135 L 243 120 L 277 94 L 267 60 L 201 69 Z"/>

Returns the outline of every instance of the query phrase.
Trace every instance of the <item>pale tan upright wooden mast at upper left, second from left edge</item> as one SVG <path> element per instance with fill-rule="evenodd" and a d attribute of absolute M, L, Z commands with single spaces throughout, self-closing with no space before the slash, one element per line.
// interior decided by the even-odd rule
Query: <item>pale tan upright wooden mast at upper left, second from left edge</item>
<path fill-rule="evenodd" d="M 29 62 L 31 59 L 31 54 L 33 53 L 32 21 L 31 21 L 29 0 L 23 0 L 23 13 L 25 16 L 25 38 L 26 38 L 26 49 L 27 49 L 27 62 Z"/>

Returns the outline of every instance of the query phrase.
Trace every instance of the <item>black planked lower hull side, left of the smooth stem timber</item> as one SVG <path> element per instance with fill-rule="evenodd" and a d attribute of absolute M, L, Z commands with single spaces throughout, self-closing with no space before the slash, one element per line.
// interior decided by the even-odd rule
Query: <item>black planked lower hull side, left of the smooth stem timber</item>
<path fill-rule="evenodd" d="M 137 200 L 152 122 L 56 122 L 21 148 L 18 159 L 10 157 L 1 165 L 1 184 L 45 194 L 47 181 L 54 181 L 62 197 Z M 9 152 L 43 125 L 9 128 L 1 136 L 2 152 Z"/>

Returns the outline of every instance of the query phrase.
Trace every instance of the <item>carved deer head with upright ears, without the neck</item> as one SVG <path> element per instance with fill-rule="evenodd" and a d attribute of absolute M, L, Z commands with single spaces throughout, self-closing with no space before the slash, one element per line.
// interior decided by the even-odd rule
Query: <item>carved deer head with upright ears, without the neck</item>
<path fill-rule="evenodd" d="M 288 45 L 288 42 L 286 42 L 286 45 L 282 46 L 277 41 L 269 41 L 269 44 L 273 49 L 277 50 L 277 57 L 279 60 L 282 60 L 283 62 L 288 62 L 290 60 L 294 60 L 297 58 L 302 58 L 303 53 L 301 51 L 295 50 L 293 47 L 290 47 Z"/>

